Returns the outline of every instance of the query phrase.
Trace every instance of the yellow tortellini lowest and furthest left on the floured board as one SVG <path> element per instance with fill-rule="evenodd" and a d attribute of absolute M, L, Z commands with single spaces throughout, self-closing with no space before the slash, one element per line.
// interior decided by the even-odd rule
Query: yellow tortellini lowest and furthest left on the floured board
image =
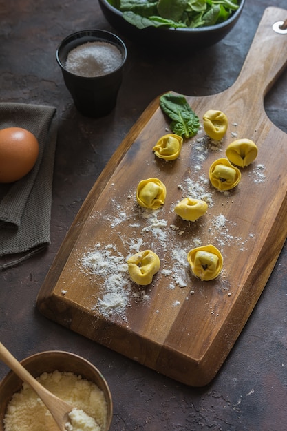
<path fill-rule="evenodd" d="M 127 259 L 131 280 L 140 286 L 147 286 L 160 269 L 160 258 L 151 250 L 140 251 Z"/>

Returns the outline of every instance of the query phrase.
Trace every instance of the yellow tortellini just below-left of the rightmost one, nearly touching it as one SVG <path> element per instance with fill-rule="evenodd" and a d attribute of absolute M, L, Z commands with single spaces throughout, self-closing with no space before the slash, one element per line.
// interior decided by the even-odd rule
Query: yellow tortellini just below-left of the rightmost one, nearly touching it
<path fill-rule="evenodd" d="M 227 158 L 219 158 L 209 168 L 209 179 L 213 187 L 226 191 L 237 186 L 241 179 L 241 172 L 231 165 Z"/>

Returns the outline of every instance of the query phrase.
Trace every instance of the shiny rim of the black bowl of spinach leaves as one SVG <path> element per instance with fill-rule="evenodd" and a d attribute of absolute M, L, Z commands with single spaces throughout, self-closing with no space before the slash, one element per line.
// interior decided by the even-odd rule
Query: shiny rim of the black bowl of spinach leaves
<path fill-rule="evenodd" d="M 114 14 L 118 15 L 118 17 L 123 18 L 123 12 L 121 12 L 120 10 L 118 10 L 117 8 L 115 8 L 114 6 L 112 6 L 108 0 L 98 0 L 100 3 L 103 4 L 103 6 L 105 6 L 107 9 L 109 9 L 111 12 L 113 12 Z M 206 25 L 206 27 L 197 27 L 197 28 L 166 28 L 166 27 L 157 27 L 156 30 L 160 30 L 160 31 L 172 31 L 172 32 L 181 32 L 181 33 L 205 33 L 205 32 L 210 32 L 213 30 L 220 30 L 221 28 L 225 28 L 228 27 L 228 25 L 230 25 L 231 23 L 233 23 L 233 21 L 235 21 L 238 17 L 238 15 L 241 14 L 242 9 L 244 7 L 244 3 L 245 0 L 240 0 L 240 5 L 238 7 L 237 10 L 235 10 L 235 12 L 231 15 L 231 17 L 229 17 L 228 19 L 226 19 L 226 21 L 222 21 L 222 23 L 218 23 L 215 25 Z M 134 28 L 136 28 L 136 26 L 134 25 Z M 147 28 L 153 28 L 153 27 L 147 27 Z M 145 29 L 143 29 L 145 30 Z M 140 29 L 138 29 L 138 31 L 140 31 Z"/>

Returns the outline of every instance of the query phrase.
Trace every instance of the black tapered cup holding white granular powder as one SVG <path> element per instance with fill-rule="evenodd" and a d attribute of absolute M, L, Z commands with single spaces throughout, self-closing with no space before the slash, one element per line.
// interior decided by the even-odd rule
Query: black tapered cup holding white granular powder
<path fill-rule="evenodd" d="M 78 45 L 95 41 L 116 45 L 122 54 L 120 65 L 110 73 L 92 78 L 68 72 L 65 69 L 65 62 L 69 52 Z M 61 67 L 65 85 L 74 100 L 76 109 L 82 115 L 96 118 L 105 116 L 114 109 L 126 59 L 125 43 L 116 34 L 105 30 L 82 30 L 63 39 L 56 49 L 56 60 Z"/>

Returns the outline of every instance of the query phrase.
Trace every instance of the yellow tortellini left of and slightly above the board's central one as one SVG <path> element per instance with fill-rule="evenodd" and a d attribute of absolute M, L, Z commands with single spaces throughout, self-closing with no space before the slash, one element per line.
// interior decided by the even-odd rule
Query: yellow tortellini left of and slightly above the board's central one
<path fill-rule="evenodd" d="M 148 178 L 138 183 L 136 200 L 140 207 L 149 209 L 160 208 L 167 196 L 167 189 L 158 178 Z"/>

